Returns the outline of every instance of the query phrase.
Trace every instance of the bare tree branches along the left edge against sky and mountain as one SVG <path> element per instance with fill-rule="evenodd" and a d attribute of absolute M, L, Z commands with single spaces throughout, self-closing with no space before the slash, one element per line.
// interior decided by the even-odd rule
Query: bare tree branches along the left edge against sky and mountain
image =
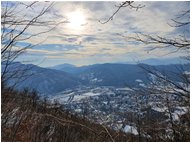
<path fill-rule="evenodd" d="M 19 69 L 13 61 L 21 54 L 42 43 L 28 41 L 34 37 L 50 32 L 62 21 L 45 19 L 53 7 L 51 2 L 2 2 L 1 7 L 1 79 L 3 82 L 10 78 L 26 78 L 30 76 L 27 70 Z M 38 5 L 40 7 L 36 8 Z M 38 31 L 31 29 L 39 28 Z M 39 37 L 40 38 L 40 37 Z M 13 67 L 11 67 L 13 65 Z M 14 70 L 13 70 L 14 69 Z"/>

